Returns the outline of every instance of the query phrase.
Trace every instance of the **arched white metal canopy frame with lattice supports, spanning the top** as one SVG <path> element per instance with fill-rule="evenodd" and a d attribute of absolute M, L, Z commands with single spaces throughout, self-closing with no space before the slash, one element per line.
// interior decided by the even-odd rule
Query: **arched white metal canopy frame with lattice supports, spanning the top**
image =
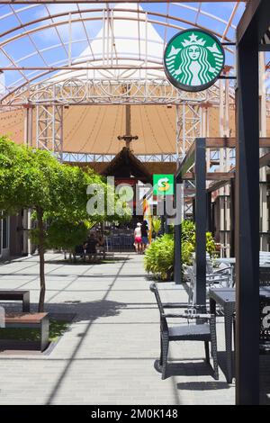
<path fill-rule="evenodd" d="M 234 82 L 220 80 L 201 93 L 179 91 L 166 78 L 163 52 L 177 31 L 210 30 L 226 44 L 230 66 L 223 76 L 234 75 L 231 44 L 245 2 L 225 2 L 226 15 L 218 7 L 213 14 L 204 2 L 4 3 L 0 110 L 26 107 L 26 139 L 34 110 L 37 147 L 62 157 L 63 106 L 70 104 L 175 104 L 179 159 L 208 126 L 208 113 L 200 105 L 219 107 L 228 121 Z M 222 130 L 221 136 L 229 131 Z"/>

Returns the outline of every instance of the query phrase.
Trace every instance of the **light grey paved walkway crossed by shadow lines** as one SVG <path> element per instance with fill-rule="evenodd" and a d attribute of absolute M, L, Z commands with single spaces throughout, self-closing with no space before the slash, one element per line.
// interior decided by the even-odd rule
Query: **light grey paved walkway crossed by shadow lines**
<path fill-rule="evenodd" d="M 232 404 L 234 385 L 211 377 L 201 342 L 174 343 L 165 381 L 154 369 L 159 317 L 142 257 L 75 265 L 46 257 L 46 311 L 76 313 L 49 355 L 0 354 L 0 404 Z M 31 290 L 39 298 L 38 257 L 0 266 L 1 289 Z M 162 284 L 165 301 L 186 301 L 182 287 Z M 223 324 L 218 320 L 219 349 Z M 179 363 L 179 358 L 181 362 Z"/>

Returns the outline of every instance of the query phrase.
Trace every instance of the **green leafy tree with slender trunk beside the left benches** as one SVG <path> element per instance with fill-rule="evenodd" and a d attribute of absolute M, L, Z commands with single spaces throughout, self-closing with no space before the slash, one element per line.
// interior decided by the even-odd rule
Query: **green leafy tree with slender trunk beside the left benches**
<path fill-rule="evenodd" d="M 21 209 L 36 213 L 40 255 L 39 311 L 44 310 L 46 222 L 59 216 L 68 222 L 101 221 L 96 213 L 89 218 L 86 211 L 87 186 L 105 184 L 93 170 L 62 165 L 48 151 L 16 145 L 6 137 L 0 138 L 0 210 L 12 214 Z M 101 190 L 102 191 L 102 190 Z"/>

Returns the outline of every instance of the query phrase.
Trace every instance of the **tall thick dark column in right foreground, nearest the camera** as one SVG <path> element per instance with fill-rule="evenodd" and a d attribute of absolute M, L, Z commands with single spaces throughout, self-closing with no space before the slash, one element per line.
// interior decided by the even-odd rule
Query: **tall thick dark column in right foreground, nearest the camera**
<path fill-rule="evenodd" d="M 236 403 L 259 401 L 259 110 L 257 23 L 238 42 Z"/>

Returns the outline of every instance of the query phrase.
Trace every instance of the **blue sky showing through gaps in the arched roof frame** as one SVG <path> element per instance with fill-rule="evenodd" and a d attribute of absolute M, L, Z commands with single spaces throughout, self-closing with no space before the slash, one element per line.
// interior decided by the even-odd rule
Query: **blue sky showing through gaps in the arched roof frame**
<path fill-rule="evenodd" d="M 110 4 L 112 5 L 112 4 Z M 220 4 L 202 4 L 202 11 L 208 14 L 214 14 L 220 17 L 221 20 L 224 22 L 219 22 L 211 16 L 206 16 L 200 14 L 198 19 L 198 24 L 208 28 L 210 31 L 216 31 L 222 33 L 226 27 L 226 22 L 229 20 L 229 16 L 232 12 L 234 3 L 220 3 Z M 48 9 L 51 14 L 57 14 L 61 12 L 68 12 L 70 10 L 74 10 L 76 4 L 48 4 Z M 141 4 L 142 8 L 145 11 L 150 12 L 157 12 L 160 14 L 166 14 L 167 12 L 167 4 Z M 44 4 L 28 6 L 25 9 L 24 4 L 14 4 L 14 5 L 0 5 L 0 28 L 1 33 L 4 31 L 8 31 L 10 28 L 14 28 L 15 26 L 19 25 L 20 22 L 15 15 L 5 16 L 8 15 L 14 7 L 14 10 L 18 12 L 18 18 L 21 23 L 27 23 L 34 19 L 39 19 L 40 17 L 47 15 L 46 6 Z M 102 7 L 100 4 L 79 4 L 81 10 L 83 9 L 90 9 L 97 7 Z M 198 2 L 194 2 L 191 4 L 184 4 L 184 6 L 179 6 L 179 4 L 170 4 L 169 5 L 169 14 L 175 15 L 179 18 L 182 18 L 186 21 L 191 22 L 191 24 L 183 23 L 184 28 L 188 28 L 190 26 L 194 26 L 192 23 L 195 22 L 197 12 L 196 8 L 198 7 Z M 238 6 L 238 11 L 232 21 L 234 25 L 237 25 L 238 20 L 240 19 L 241 15 L 244 11 L 244 4 L 240 4 Z M 25 9 L 25 10 L 24 10 Z M 19 12 L 21 10 L 21 12 Z M 97 16 L 97 14 L 95 14 Z M 100 14 L 99 14 L 100 15 Z M 5 16 L 5 17 L 4 17 Z M 2 19 L 1 19 L 2 18 Z M 59 18 L 60 20 L 61 18 Z M 155 16 L 156 21 L 164 21 L 164 18 L 160 18 Z M 29 27 L 33 29 L 37 25 L 41 25 L 41 23 L 36 23 Z M 79 54 L 84 51 L 87 46 L 87 41 L 82 40 L 85 38 L 85 30 L 87 31 L 87 35 L 90 38 L 94 38 L 96 33 L 101 29 L 102 23 L 99 21 L 85 23 L 85 29 L 83 28 L 81 23 L 75 23 L 72 27 L 73 37 L 78 40 L 78 42 L 72 45 L 72 55 L 73 57 L 79 56 Z M 165 27 L 161 25 L 155 25 L 155 28 L 161 38 L 164 38 L 165 35 Z M 22 31 L 22 30 L 20 30 Z M 68 40 L 68 27 L 67 25 L 62 25 L 58 27 L 59 34 L 62 40 Z M 175 34 L 174 29 L 167 30 L 167 39 L 171 38 Z M 19 33 L 19 31 L 13 32 L 13 35 Z M 6 35 L 1 37 L 1 41 L 9 38 L 11 35 Z M 228 36 L 230 39 L 234 39 L 234 31 L 229 30 Z M 21 40 L 16 40 L 15 42 L 9 43 L 4 47 L 4 51 L 8 55 L 9 58 L 14 59 L 14 61 L 18 61 L 24 56 L 30 55 L 29 58 L 25 58 L 23 61 L 20 62 L 22 66 L 45 66 L 44 60 L 51 64 L 57 60 L 67 60 L 67 51 L 59 45 L 59 47 L 55 49 L 50 49 L 52 45 L 60 44 L 60 40 L 58 38 L 58 34 L 54 29 L 49 29 L 46 31 L 39 31 L 32 35 L 32 40 L 28 37 L 24 37 Z M 46 49 L 42 52 L 42 55 L 32 53 L 36 52 L 36 50 Z M 43 58 L 42 58 L 43 57 Z M 11 64 L 10 59 L 7 58 L 3 52 L 0 51 L 0 67 L 1 66 L 9 66 Z M 227 63 L 232 64 L 234 58 L 232 55 L 227 55 Z M 64 63 L 64 62 L 63 62 Z M 30 72 L 26 72 L 26 75 L 30 74 Z M 5 83 L 6 85 L 12 85 L 18 78 L 20 78 L 20 74 L 18 72 L 8 71 L 5 73 Z"/>

